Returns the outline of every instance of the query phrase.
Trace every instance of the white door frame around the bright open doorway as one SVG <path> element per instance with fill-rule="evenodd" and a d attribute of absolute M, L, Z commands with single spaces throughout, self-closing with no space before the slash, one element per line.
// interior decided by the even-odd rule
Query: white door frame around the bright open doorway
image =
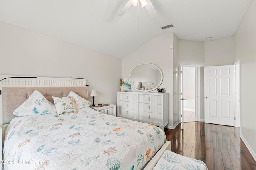
<path fill-rule="evenodd" d="M 178 67 L 178 75 L 179 75 L 179 98 L 181 96 L 181 64 Z M 200 66 L 194 66 L 194 65 L 183 65 L 183 67 L 194 67 L 195 68 L 195 112 L 196 112 L 196 121 L 200 122 Z M 181 122 L 180 119 L 180 114 L 181 114 L 181 100 L 179 102 L 179 121 Z"/>

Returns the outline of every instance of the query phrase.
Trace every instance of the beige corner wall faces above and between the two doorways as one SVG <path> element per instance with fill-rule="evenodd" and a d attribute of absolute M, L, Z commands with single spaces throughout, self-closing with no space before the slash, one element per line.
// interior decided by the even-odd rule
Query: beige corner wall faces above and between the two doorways
<path fill-rule="evenodd" d="M 200 121 L 204 121 L 204 66 L 234 63 L 234 37 L 212 41 L 179 40 L 179 64 L 200 66 Z"/>

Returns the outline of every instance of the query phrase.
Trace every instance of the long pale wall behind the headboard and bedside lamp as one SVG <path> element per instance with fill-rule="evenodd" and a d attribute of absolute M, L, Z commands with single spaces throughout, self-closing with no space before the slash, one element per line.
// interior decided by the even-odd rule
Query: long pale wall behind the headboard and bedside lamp
<path fill-rule="evenodd" d="M 0 37 L 0 74 L 85 78 L 94 103 L 117 103 L 122 59 L 2 21 Z"/>

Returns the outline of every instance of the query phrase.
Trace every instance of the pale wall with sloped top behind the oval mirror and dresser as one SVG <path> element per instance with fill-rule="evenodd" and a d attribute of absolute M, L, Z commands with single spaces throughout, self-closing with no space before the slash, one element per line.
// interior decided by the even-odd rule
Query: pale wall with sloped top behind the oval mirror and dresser
<path fill-rule="evenodd" d="M 163 82 L 160 88 L 166 88 L 169 96 L 169 125 L 173 124 L 172 115 L 172 77 L 173 77 L 173 49 L 170 49 L 170 45 L 173 44 L 173 33 L 154 37 L 142 47 L 128 55 L 123 59 L 122 76 L 128 78 L 130 71 L 136 65 L 141 63 L 152 63 L 158 66 L 163 72 Z M 132 91 L 134 88 L 132 88 Z M 156 90 L 154 91 L 156 92 Z"/>

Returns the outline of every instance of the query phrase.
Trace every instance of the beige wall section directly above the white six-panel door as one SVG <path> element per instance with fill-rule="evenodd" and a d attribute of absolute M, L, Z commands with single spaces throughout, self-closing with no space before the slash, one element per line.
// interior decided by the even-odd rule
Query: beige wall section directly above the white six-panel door
<path fill-rule="evenodd" d="M 221 66 L 234 63 L 234 37 L 205 41 L 204 66 Z"/>

